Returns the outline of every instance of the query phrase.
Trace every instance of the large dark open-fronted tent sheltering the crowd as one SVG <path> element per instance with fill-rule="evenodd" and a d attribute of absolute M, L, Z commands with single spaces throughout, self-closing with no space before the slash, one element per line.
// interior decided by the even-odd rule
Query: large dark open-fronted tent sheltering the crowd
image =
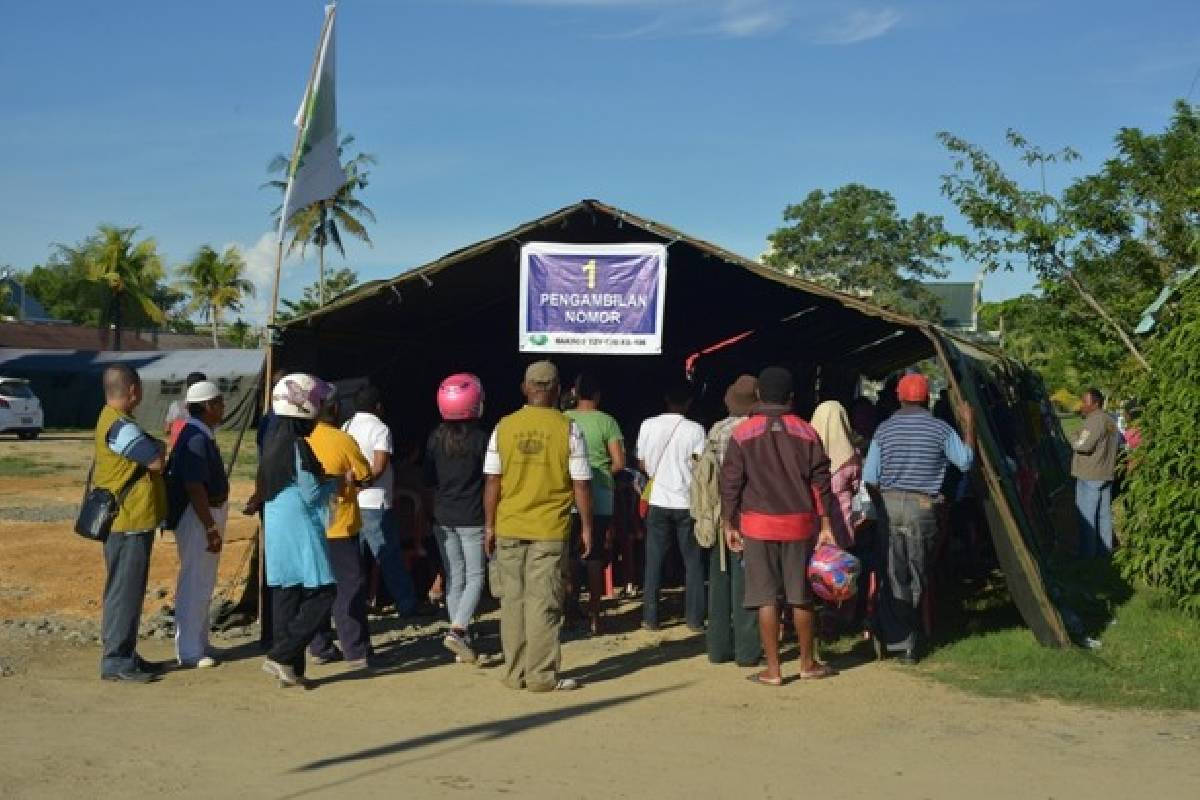
<path fill-rule="evenodd" d="M 1046 511 L 1062 497 L 1062 432 L 1042 413 L 1044 391 L 1021 365 L 925 323 L 792 278 L 667 225 L 582 200 L 389 281 L 373 281 L 280 330 L 275 365 L 330 380 L 370 378 L 400 439 L 420 443 L 437 421 L 434 389 L 474 372 L 491 419 L 516 408 L 530 360 L 518 351 L 522 245 L 654 242 L 667 246 L 662 353 L 557 355 L 564 378 L 598 375 L 605 405 L 626 428 L 660 410 L 670 383 L 690 375 L 701 416 L 739 373 L 779 362 L 826 395 L 934 359 L 952 393 L 976 409 L 977 487 L 1009 590 L 1039 642 L 1069 637 L 1046 591 L 1040 553 L 1055 539 Z M 804 398 L 799 399 L 803 409 Z M 706 420 L 710 421 L 710 420 Z"/>

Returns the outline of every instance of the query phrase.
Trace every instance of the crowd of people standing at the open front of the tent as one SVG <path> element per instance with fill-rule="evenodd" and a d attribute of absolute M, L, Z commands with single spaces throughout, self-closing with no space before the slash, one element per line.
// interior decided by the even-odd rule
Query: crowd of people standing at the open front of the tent
<path fill-rule="evenodd" d="M 131 488 L 104 543 L 101 676 L 151 682 L 168 666 L 137 652 L 154 531 L 162 527 L 174 530 L 180 561 L 175 662 L 215 667 L 209 604 L 229 515 L 214 433 L 221 391 L 190 375 L 184 402 L 164 422 L 166 444 L 133 417 L 137 372 L 113 366 L 103 381 L 96 485 Z M 792 373 L 769 367 L 728 386 L 727 416 L 708 431 L 689 419 L 692 387 L 680 383 L 667 390 L 664 413 L 641 423 L 632 453 L 602 410 L 593 375 L 577 375 L 564 392 L 552 362 L 530 365 L 524 405 L 488 431 L 484 386 L 455 374 L 437 387 L 442 422 L 414 458 L 400 456 L 374 386 L 362 385 L 353 408 L 341 409 L 335 387 L 314 375 L 281 374 L 272 384 L 244 511 L 262 516 L 270 597 L 263 669 L 282 686 L 307 685 L 307 663 L 373 667 L 372 575 L 401 616 L 416 609 L 427 584 L 419 591 L 414 582 L 394 506 L 408 491 L 397 488 L 398 473 L 418 459 L 424 491 L 416 494 L 428 498 L 440 563 L 430 596 L 444 600 L 443 644 L 456 661 L 476 661 L 473 620 L 490 588 L 500 604 L 502 680 L 533 692 L 578 686 L 560 674 L 564 618 L 574 609 L 592 633 L 604 631 L 606 571 L 630 531 L 644 548 L 642 627 L 664 624 L 660 595 L 674 551 L 684 624 L 706 637 L 710 661 L 754 668 L 757 684 L 784 681 L 781 621 L 796 633 L 800 680 L 834 674 L 817 658 L 823 631 L 862 633 L 881 656 L 914 662 L 937 507 L 948 473 L 961 476 L 973 461 L 970 407 L 940 419 L 946 414 L 931 413 L 929 381 L 917 373 L 887 387 L 878 403 L 827 399 L 805 420 Z M 1081 457 L 1102 458 L 1086 456 L 1086 445 L 1078 443 Z M 632 515 L 623 503 L 631 493 Z M 421 537 L 412 539 L 420 552 Z M 859 600 L 818 607 L 808 577 L 818 547 L 859 559 Z M 632 584 L 629 559 L 620 560 Z"/>

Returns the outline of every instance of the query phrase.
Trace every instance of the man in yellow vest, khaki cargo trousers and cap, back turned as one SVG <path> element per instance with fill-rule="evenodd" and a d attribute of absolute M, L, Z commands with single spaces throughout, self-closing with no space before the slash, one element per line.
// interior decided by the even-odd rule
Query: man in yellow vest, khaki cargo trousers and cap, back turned
<path fill-rule="evenodd" d="M 571 506 L 582 558 L 592 551 L 592 467 L 578 426 L 558 410 L 558 369 L 539 361 L 521 386 L 526 407 L 500 420 L 484 458 L 484 547 L 500 567 L 504 685 L 530 692 L 578 688 L 559 680 L 563 559 Z"/>

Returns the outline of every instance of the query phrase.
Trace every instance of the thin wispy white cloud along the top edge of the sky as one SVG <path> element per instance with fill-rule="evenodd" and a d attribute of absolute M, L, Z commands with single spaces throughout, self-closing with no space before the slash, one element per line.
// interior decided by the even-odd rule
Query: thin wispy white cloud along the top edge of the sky
<path fill-rule="evenodd" d="M 704 36 L 751 38 L 787 29 L 821 44 L 857 44 L 877 38 L 900 22 L 899 11 L 840 0 L 486 0 L 510 6 L 604 13 L 628 22 L 602 38 Z"/>

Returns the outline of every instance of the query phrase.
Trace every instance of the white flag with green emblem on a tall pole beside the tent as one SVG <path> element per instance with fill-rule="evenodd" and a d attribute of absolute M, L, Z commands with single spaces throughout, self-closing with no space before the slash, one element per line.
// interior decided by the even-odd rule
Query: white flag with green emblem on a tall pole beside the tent
<path fill-rule="evenodd" d="M 334 90 L 334 17 L 336 5 L 325 6 L 325 25 L 308 88 L 305 90 L 295 125 L 300 139 L 288 166 L 288 188 L 280 217 L 280 241 L 288 219 L 296 211 L 337 194 L 346 184 L 346 170 L 337 157 L 337 98 Z"/>

